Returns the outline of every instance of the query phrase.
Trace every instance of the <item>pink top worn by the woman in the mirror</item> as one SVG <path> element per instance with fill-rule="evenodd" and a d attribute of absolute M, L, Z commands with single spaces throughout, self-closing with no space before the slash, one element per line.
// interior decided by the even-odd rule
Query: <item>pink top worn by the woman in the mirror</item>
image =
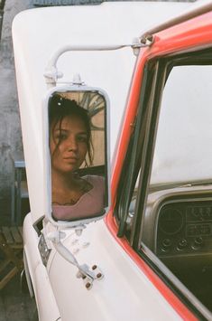
<path fill-rule="evenodd" d="M 104 210 L 105 181 L 101 176 L 86 175 L 82 177 L 93 188 L 83 194 L 78 202 L 73 205 L 52 205 L 52 212 L 55 219 L 72 220 L 88 216 L 96 216 Z"/>

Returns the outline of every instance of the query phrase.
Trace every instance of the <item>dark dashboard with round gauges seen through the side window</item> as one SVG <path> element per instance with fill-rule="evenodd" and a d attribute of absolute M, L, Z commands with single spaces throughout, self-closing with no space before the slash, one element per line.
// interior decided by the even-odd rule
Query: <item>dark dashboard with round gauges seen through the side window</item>
<path fill-rule="evenodd" d="M 212 310 L 212 185 L 149 196 L 143 243 Z"/>

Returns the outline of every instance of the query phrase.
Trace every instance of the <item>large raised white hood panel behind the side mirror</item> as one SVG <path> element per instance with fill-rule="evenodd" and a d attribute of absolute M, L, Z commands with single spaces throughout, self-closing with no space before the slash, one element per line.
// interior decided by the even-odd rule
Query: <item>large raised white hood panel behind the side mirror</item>
<path fill-rule="evenodd" d="M 15 71 L 33 222 L 47 212 L 41 101 L 46 92 L 43 72 L 52 53 L 65 44 L 132 42 L 152 24 L 178 15 L 188 6 L 188 3 L 117 2 L 31 9 L 15 17 Z M 64 80 L 72 80 L 79 72 L 88 85 L 103 88 L 108 93 L 112 156 L 134 62 L 133 52 L 128 48 L 117 52 L 68 52 L 58 63 L 59 69 L 64 71 Z"/>

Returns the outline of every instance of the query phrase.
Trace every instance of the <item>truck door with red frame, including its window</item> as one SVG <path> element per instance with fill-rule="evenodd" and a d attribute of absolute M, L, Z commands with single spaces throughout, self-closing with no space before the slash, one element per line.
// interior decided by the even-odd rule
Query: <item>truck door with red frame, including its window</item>
<path fill-rule="evenodd" d="M 212 317 L 211 18 L 153 34 L 141 52 L 113 181 L 117 231 L 108 219 L 184 319 Z"/>

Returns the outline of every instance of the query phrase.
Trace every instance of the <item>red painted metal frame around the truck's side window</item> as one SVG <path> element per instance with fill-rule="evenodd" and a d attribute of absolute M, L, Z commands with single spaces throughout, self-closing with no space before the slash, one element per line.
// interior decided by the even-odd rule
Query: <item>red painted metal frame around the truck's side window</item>
<path fill-rule="evenodd" d="M 143 80 L 143 69 L 146 61 L 171 53 L 189 52 L 212 46 L 212 12 L 202 14 L 194 19 L 173 26 L 167 30 L 154 35 L 152 47 L 141 50 L 134 72 L 134 80 L 128 99 L 127 111 L 124 117 L 124 125 L 120 143 L 115 158 L 115 169 L 112 175 L 112 206 L 106 216 L 106 225 L 115 237 L 115 240 L 126 251 L 132 260 L 142 269 L 143 273 L 150 279 L 152 284 L 159 289 L 161 295 L 167 299 L 184 320 L 198 320 L 196 316 L 186 307 L 170 288 L 153 272 L 153 270 L 132 249 L 125 238 L 117 238 L 117 225 L 114 218 L 115 196 L 119 177 L 121 175 L 124 156 L 131 136 L 132 124 L 136 114 L 140 89 Z"/>

